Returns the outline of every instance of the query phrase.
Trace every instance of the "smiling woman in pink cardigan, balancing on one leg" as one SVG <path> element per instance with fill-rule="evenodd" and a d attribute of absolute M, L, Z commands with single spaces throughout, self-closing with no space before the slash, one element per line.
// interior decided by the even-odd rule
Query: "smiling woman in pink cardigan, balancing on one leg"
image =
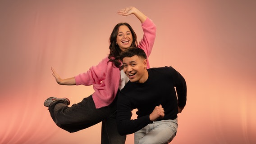
<path fill-rule="evenodd" d="M 56 125 L 69 132 L 76 132 L 102 122 L 101 144 L 124 144 L 126 136 L 121 136 L 116 127 L 116 95 L 128 81 L 121 68 L 120 53 L 130 46 L 143 49 L 147 57 L 150 55 L 154 40 L 155 24 L 135 7 L 118 11 L 127 16 L 134 14 L 142 23 L 144 35 L 137 44 L 137 36 L 128 23 L 118 23 L 110 35 L 110 54 L 87 72 L 78 76 L 61 79 L 53 68 L 53 76 L 60 85 L 93 85 L 95 92 L 80 103 L 70 104 L 69 99 L 50 97 L 44 105 Z M 149 68 L 149 67 L 148 67 Z"/>

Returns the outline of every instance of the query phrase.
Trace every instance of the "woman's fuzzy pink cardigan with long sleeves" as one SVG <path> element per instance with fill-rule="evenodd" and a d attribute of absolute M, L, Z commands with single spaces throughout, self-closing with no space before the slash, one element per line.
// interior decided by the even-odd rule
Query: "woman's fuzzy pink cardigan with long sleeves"
<path fill-rule="evenodd" d="M 145 51 L 148 58 L 155 42 L 156 27 L 151 19 L 147 18 L 142 23 L 142 29 L 144 35 L 138 47 Z M 76 85 L 93 85 L 95 92 L 92 94 L 92 99 L 96 108 L 102 108 L 112 103 L 119 89 L 119 68 L 113 67 L 113 63 L 108 63 L 108 61 L 107 56 L 87 72 L 75 76 Z M 148 63 L 147 68 L 149 67 Z"/>

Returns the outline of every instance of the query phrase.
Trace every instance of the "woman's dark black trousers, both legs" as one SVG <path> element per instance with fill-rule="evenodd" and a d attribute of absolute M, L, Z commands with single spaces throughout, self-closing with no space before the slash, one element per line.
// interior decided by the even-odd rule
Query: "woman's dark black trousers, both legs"
<path fill-rule="evenodd" d="M 91 95 L 71 107 L 62 100 L 56 100 L 50 104 L 49 112 L 56 125 L 69 132 L 102 122 L 101 144 L 124 144 L 126 136 L 119 135 L 117 131 L 116 101 L 117 97 L 109 106 L 96 109 Z"/>

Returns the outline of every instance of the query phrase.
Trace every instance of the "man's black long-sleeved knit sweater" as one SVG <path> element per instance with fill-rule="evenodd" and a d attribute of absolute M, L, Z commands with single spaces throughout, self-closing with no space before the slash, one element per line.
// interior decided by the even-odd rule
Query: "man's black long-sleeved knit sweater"
<path fill-rule="evenodd" d="M 179 72 L 173 67 L 150 68 L 147 71 L 148 79 L 144 83 L 128 81 L 119 93 L 117 124 L 120 135 L 132 134 L 152 123 L 149 115 L 155 106 L 161 104 L 165 110 L 165 117 L 157 120 L 160 121 L 177 118 L 178 106 L 186 105 L 186 81 Z M 131 120 L 131 111 L 136 108 L 138 117 Z"/>

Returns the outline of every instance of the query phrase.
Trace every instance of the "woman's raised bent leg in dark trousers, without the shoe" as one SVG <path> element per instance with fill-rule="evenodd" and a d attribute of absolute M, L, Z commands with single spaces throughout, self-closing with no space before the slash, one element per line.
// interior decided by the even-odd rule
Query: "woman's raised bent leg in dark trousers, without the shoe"
<path fill-rule="evenodd" d="M 69 132 L 93 126 L 113 113 L 109 106 L 96 109 L 91 95 L 71 107 L 56 100 L 50 104 L 49 112 L 56 125 Z"/>

